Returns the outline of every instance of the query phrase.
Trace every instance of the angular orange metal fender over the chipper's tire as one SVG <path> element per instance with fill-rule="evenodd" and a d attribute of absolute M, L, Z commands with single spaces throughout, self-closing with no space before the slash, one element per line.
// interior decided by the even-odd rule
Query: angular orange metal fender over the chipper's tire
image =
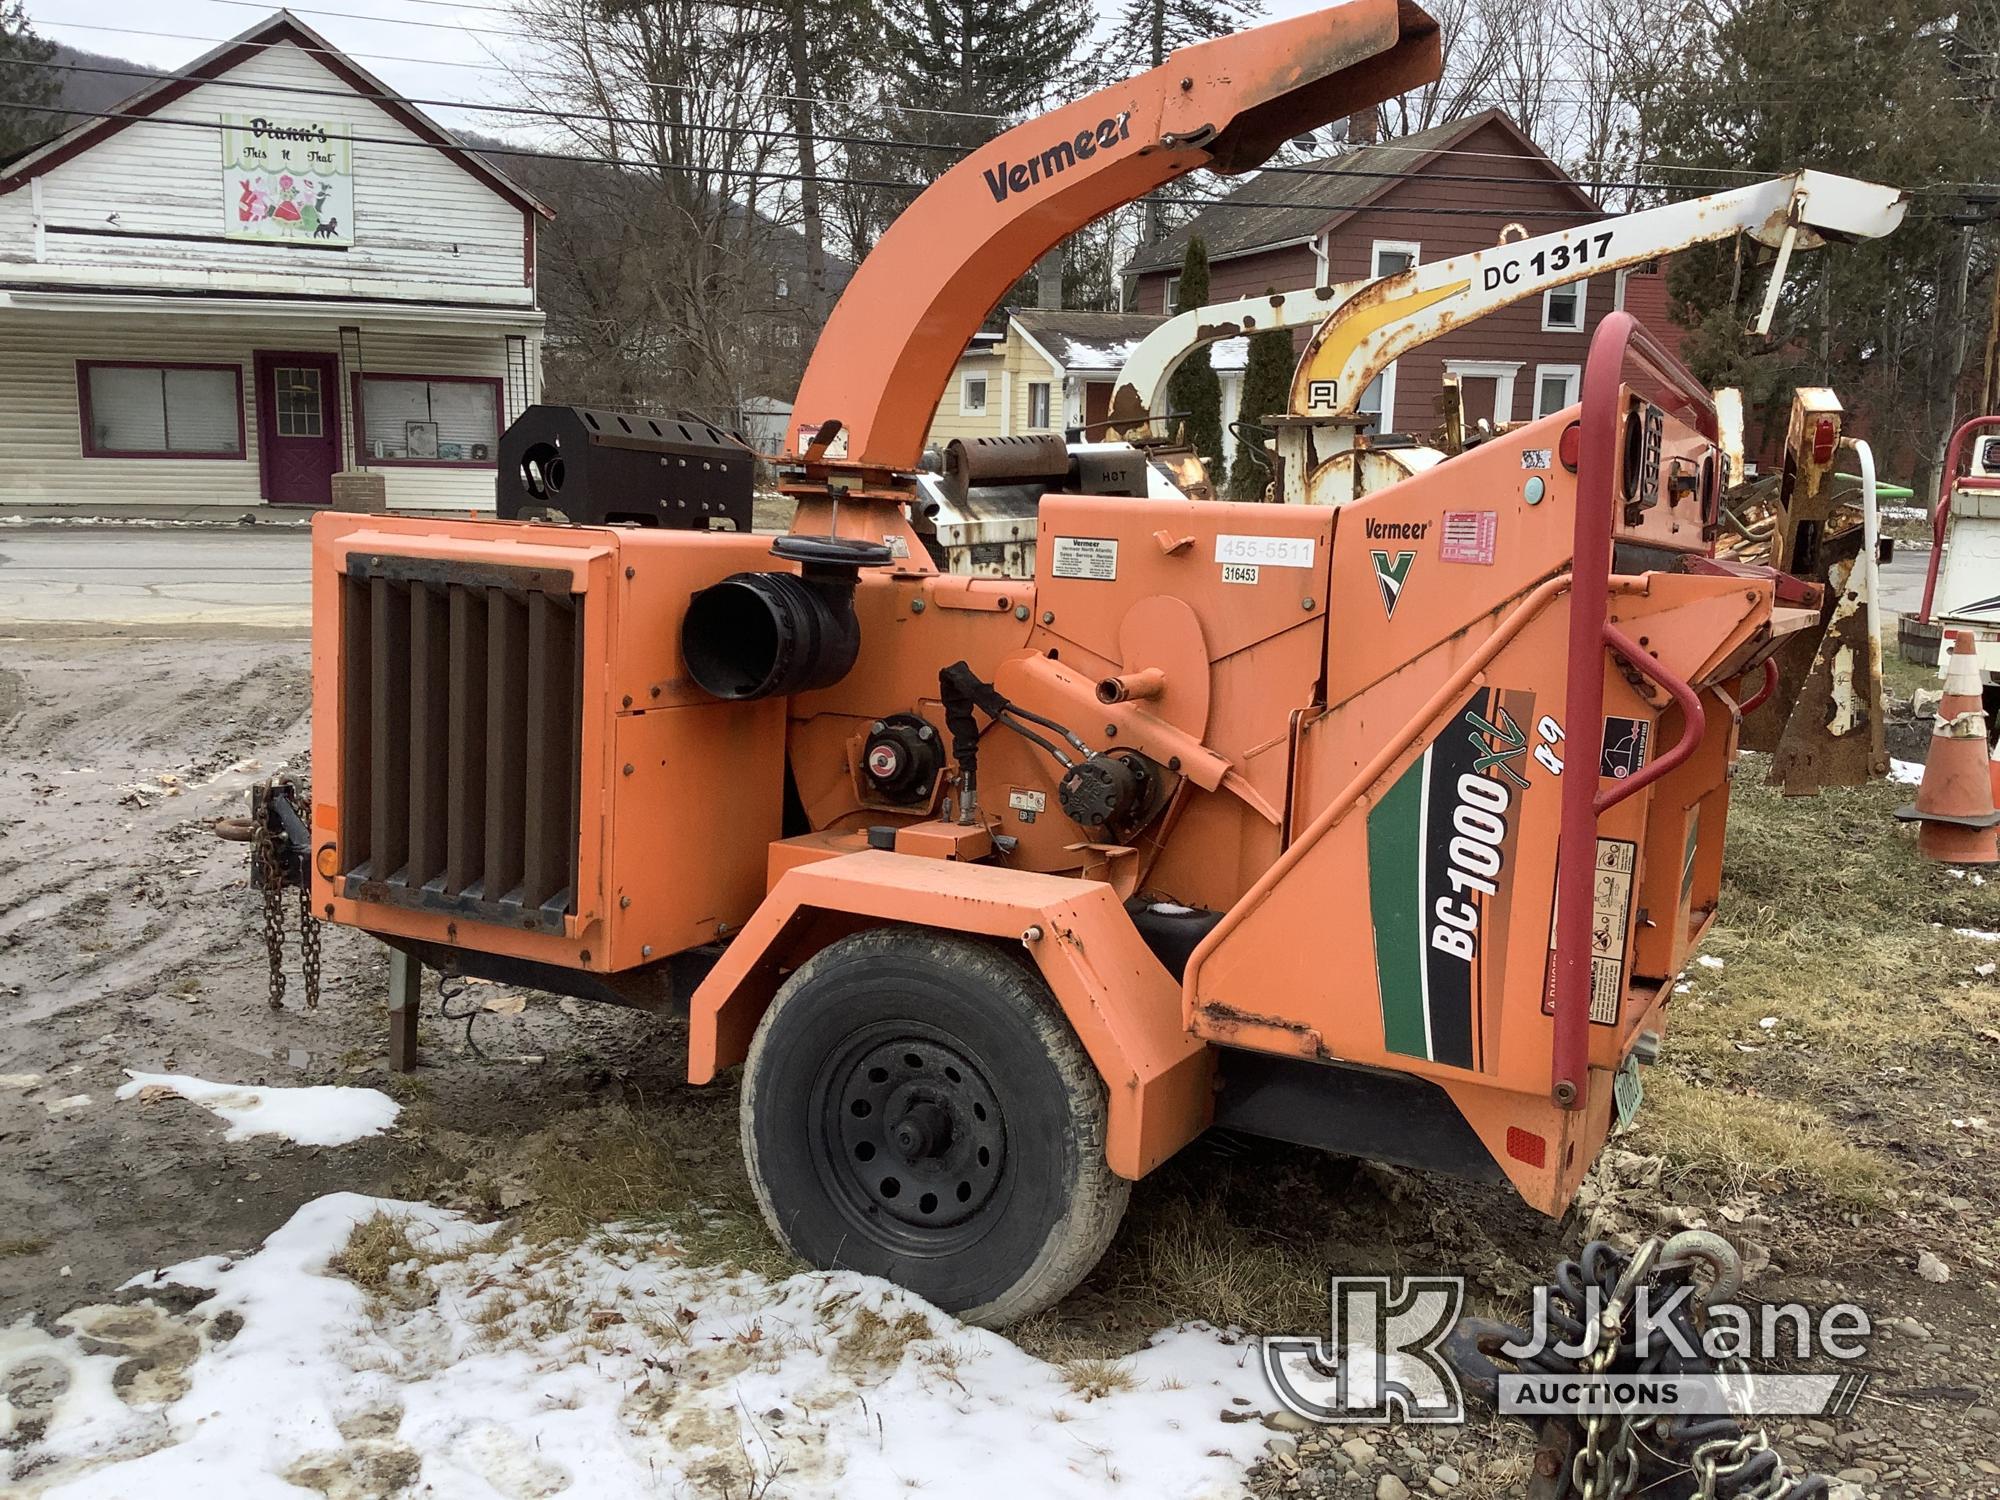
<path fill-rule="evenodd" d="M 884 922 L 1022 944 L 1110 1090 L 1104 1154 L 1118 1176 L 1144 1176 L 1208 1126 L 1208 1044 L 1184 1030 L 1180 986 L 1118 892 L 888 850 L 780 876 L 688 1004 L 688 1080 L 706 1084 L 744 1060 L 786 974 L 828 942 Z"/>

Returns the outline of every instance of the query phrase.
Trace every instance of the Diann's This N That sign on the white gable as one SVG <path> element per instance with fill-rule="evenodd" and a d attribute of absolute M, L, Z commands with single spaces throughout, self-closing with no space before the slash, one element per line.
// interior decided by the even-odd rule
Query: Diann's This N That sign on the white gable
<path fill-rule="evenodd" d="M 228 240 L 354 244 L 354 156 L 342 122 L 222 116 Z"/>

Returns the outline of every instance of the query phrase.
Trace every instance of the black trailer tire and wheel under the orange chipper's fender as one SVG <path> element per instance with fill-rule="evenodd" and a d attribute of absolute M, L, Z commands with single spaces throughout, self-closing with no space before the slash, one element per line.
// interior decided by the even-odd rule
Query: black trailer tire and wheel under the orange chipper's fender
<path fill-rule="evenodd" d="M 924 928 L 856 932 L 778 992 L 744 1064 L 744 1166 L 802 1260 L 1004 1326 L 1110 1246 L 1130 1184 L 1106 1090 L 1042 978 Z"/>

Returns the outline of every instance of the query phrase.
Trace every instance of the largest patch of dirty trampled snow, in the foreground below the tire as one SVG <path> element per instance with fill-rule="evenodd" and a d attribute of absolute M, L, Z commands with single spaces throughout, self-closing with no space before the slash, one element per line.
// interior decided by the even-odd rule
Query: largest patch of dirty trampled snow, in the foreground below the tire
<path fill-rule="evenodd" d="M 376 1212 L 402 1218 L 426 1260 L 370 1298 L 328 1258 Z M 112 1394 L 116 1358 L 52 1350 L 76 1376 L 22 1456 L 48 1500 L 296 1500 L 294 1486 L 384 1466 L 436 1500 L 1220 1498 L 1242 1494 L 1270 1436 L 1254 1420 L 1276 1410 L 1258 1346 L 1206 1326 L 1156 1336 L 1088 1398 L 1000 1334 L 852 1272 L 722 1274 L 684 1264 L 660 1230 L 588 1248 L 488 1232 L 334 1194 L 252 1256 L 160 1272 L 214 1288 L 194 1320 L 232 1314 L 240 1330 L 204 1342 L 186 1394 L 138 1416 Z"/>

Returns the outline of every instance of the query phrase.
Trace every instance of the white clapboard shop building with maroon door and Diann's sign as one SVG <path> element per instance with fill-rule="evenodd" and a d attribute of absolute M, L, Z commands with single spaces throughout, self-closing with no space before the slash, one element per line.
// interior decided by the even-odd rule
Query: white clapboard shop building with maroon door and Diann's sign
<path fill-rule="evenodd" d="M 106 116 L 0 162 L 0 504 L 490 508 L 548 210 L 282 10 Z"/>

